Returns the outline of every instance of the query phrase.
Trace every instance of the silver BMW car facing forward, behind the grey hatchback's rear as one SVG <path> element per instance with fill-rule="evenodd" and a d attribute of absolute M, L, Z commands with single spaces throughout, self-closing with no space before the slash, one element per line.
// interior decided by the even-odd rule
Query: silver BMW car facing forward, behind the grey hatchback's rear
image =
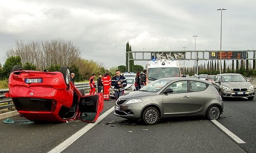
<path fill-rule="evenodd" d="M 230 97 L 254 98 L 253 85 L 241 74 L 218 74 L 212 81 L 212 85 L 218 90 L 222 99 Z"/>

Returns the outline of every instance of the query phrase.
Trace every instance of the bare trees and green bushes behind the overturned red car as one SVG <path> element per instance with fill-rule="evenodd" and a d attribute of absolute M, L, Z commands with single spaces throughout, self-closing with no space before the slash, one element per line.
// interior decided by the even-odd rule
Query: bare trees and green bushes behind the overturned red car
<path fill-rule="evenodd" d="M 88 80 L 92 74 L 105 74 L 102 63 L 83 59 L 81 50 L 70 41 L 46 40 L 23 42 L 17 41 L 6 52 L 6 62 L 0 65 L 0 80 L 9 78 L 15 65 L 22 65 L 24 70 L 59 71 L 61 66 L 68 66 L 75 73 L 75 81 Z"/>

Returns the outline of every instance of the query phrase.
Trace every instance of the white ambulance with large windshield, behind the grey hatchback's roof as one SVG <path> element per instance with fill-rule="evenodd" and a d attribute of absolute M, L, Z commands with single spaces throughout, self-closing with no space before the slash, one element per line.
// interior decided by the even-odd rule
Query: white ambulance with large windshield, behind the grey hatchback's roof
<path fill-rule="evenodd" d="M 179 62 L 175 59 L 159 59 L 148 61 L 146 65 L 146 83 L 168 77 L 181 77 Z"/>

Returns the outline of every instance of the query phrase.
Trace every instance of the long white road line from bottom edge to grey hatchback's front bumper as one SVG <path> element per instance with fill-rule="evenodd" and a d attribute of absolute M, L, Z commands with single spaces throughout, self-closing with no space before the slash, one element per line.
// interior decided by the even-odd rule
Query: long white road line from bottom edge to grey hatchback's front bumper
<path fill-rule="evenodd" d="M 67 138 L 64 142 L 50 150 L 48 153 L 61 153 L 61 151 L 65 150 L 68 146 L 70 146 L 73 142 L 75 142 L 77 139 L 79 139 L 84 133 L 86 133 L 88 130 L 90 130 L 94 125 L 97 125 L 102 119 L 104 119 L 109 113 L 114 111 L 114 107 L 110 108 L 108 111 L 103 113 L 99 116 L 97 121 L 95 123 L 89 123 L 79 131 L 77 131 L 75 134 Z"/>

